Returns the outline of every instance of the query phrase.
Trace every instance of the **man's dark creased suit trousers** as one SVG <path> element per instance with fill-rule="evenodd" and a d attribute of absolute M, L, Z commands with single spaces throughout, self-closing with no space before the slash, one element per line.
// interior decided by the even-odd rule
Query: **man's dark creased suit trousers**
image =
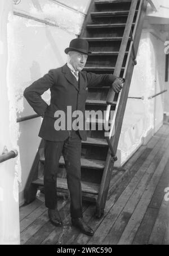
<path fill-rule="evenodd" d="M 82 217 L 81 189 L 81 137 L 78 131 L 70 131 L 63 142 L 45 140 L 45 205 L 47 208 L 57 207 L 57 171 L 59 158 L 63 153 L 66 178 L 70 193 L 70 216 Z"/>

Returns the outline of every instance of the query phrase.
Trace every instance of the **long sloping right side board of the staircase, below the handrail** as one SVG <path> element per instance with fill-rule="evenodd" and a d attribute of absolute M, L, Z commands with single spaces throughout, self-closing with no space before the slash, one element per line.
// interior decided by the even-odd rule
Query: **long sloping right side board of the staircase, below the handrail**
<path fill-rule="evenodd" d="M 135 40 L 134 46 L 135 46 L 135 54 L 136 55 L 137 55 L 137 51 L 139 48 L 141 31 L 143 28 L 144 18 L 146 15 L 146 6 L 147 6 L 147 1 L 143 0 L 139 20 L 136 25 L 137 27 L 136 27 L 135 37 L 134 37 L 134 40 Z M 117 152 L 119 136 L 121 134 L 122 122 L 123 122 L 124 112 L 126 109 L 128 92 L 130 90 L 130 83 L 131 83 L 133 70 L 134 70 L 133 57 L 132 57 L 132 52 L 130 52 L 130 58 L 129 58 L 129 61 L 128 61 L 127 67 L 126 67 L 125 84 L 123 86 L 121 98 L 119 100 L 117 116 L 115 118 L 115 133 L 111 139 L 111 142 L 112 142 L 115 152 Z M 106 157 L 106 161 L 105 161 L 103 177 L 102 177 L 101 183 L 100 183 L 99 195 L 98 195 L 97 201 L 96 201 L 95 216 L 97 218 L 100 218 L 104 213 L 106 198 L 108 196 L 108 191 L 109 191 L 110 176 L 111 176 L 111 173 L 113 170 L 113 166 L 114 166 L 114 162 L 112 160 L 111 152 L 109 150 L 108 155 Z"/>

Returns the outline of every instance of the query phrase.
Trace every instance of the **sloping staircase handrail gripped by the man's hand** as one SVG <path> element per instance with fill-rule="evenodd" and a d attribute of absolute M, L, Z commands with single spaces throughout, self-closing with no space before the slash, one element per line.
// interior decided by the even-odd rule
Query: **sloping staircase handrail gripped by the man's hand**
<path fill-rule="evenodd" d="M 127 47 L 127 43 L 128 43 L 128 38 L 131 34 L 132 22 L 133 22 L 133 19 L 134 19 L 137 2 L 138 2 L 137 0 L 132 0 L 132 2 L 131 2 L 131 7 L 130 7 L 129 14 L 128 14 L 126 27 L 124 29 L 124 34 L 123 34 L 123 39 L 122 39 L 122 42 L 121 42 L 121 47 L 119 49 L 120 54 L 118 55 L 117 63 L 115 65 L 115 70 L 114 70 L 114 75 L 117 76 L 117 77 L 119 76 L 119 74 L 121 72 L 123 59 L 124 59 L 124 54 L 126 52 L 126 47 Z M 139 11 L 137 12 L 135 28 L 134 28 L 134 32 L 132 34 L 132 40 L 130 42 L 130 50 L 128 52 L 123 77 L 125 77 L 125 75 L 126 75 L 127 65 L 128 65 L 129 59 L 130 59 L 131 51 L 133 51 L 133 49 L 134 49 L 133 48 L 133 45 L 134 45 L 134 39 L 133 38 L 134 38 L 134 35 L 135 35 L 137 23 L 138 23 L 138 20 L 139 20 L 139 15 L 140 15 L 140 11 L 141 11 L 142 2 L 143 2 L 143 0 L 140 1 Z M 133 51 L 133 53 L 134 53 L 134 51 Z M 113 92 L 113 89 L 112 89 L 112 91 L 111 91 L 111 89 L 112 88 L 110 88 L 110 90 L 109 90 L 108 99 L 107 99 L 108 105 L 107 105 L 106 114 L 105 114 L 105 127 L 109 127 L 108 125 L 109 125 L 110 108 L 111 108 L 112 102 L 114 101 L 114 95 L 115 95 L 115 93 Z M 117 114 L 117 109 L 118 109 L 120 98 L 121 98 L 121 91 L 118 94 L 118 100 L 117 100 L 117 104 L 116 104 L 116 107 L 115 107 L 113 120 L 112 120 L 112 124 L 111 124 L 110 131 L 109 131 L 109 135 L 108 136 L 107 136 L 107 134 L 105 135 L 106 140 L 107 140 L 108 145 L 109 145 L 109 148 L 110 148 L 110 151 L 111 151 L 111 155 L 113 157 L 113 161 L 117 161 L 117 156 L 115 155 L 113 145 L 111 143 L 110 138 L 114 135 L 113 131 L 114 131 L 114 124 L 115 124 L 115 117 L 116 117 L 116 114 Z"/>

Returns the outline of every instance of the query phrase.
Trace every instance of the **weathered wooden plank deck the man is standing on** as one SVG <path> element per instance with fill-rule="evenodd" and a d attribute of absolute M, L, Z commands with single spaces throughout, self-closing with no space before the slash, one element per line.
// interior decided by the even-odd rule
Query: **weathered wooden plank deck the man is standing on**
<path fill-rule="evenodd" d="M 93 217 L 95 205 L 83 203 L 83 216 L 93 237 L 71 227 L 69 201 L 59 199 L 63 227 L 48 221 L 44 196 L 20 208 L 21 244 L 169 244 L 169 125 L 123 166 L 127 175 L 106 202 L 104 217 Z"/>

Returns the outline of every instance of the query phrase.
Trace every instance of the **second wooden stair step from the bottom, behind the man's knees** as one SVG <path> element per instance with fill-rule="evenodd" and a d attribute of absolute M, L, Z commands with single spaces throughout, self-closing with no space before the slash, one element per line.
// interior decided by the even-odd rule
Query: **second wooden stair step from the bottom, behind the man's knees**
<path fill-rule="evenodd" d="M 41 162 L 44 162 L 45 161 L 45 157 L 41 157 L 40 160 L 41 160 Z M 63 156 L 60 157 L 59 164 L 60 165 L 65 165 L 65 161 L 64 161 L 64 157 Z M 104 164 L 105 164 L 105 161 L 81 158 L 81 166 L 82 167 L 102 170 L 102 169 L 104 169 Z"/>

